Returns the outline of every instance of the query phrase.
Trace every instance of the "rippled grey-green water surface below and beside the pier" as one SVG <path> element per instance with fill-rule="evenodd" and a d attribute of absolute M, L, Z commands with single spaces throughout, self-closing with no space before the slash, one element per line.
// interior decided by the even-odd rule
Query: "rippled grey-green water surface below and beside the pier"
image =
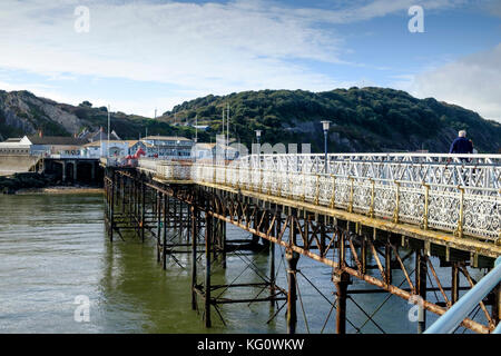
<path fill-rule="evenodd" d="M 220 314 L 226 326 L 214 313 L 214 327 L 206 329 L 202 315 L 190 306 L 189 254 L 178 255 L 177 263 L 170 258 L 164 271 L 151 239 L 141 244 L 126 235 L 126 241 L 109 243 L 101 195 L 0 196 L 0 333 L 285 332 L 285 308 L 267 323 L 276 312 L 269 303 L 224 305 Z M 247 236 L 228 226 L 228 239 Z M 276 265 L 278 284 L 286 288 L 281 248 L 276 248 Z M 412 265 L 411 259 L 411 270 Z M 258 275 L 266 274 L 268 258 L 266 254 L 239 253 L 228 256 L 227 266 L 214 265 L 213 284 L 262 281 Z M 198 268 L 202 280 L 203 260 Z M 298 268 L 298 332 L 324 328 L 333 333 L 335 312 L 325 323 L 334 299 L 331 269 L 308 258 L 301 258 Z M 395 273 L 394 280 L 403 278 Z M 369 286 L 355 280 L 350 288 Z M 230 288 L 222 297 L 252 298 L 259 291 Z M 90 300 L 89 323 L 73 319 L 79 295 Z M 267 296 L 267 290 L 261 296 Z M 386 294 L 353 295 L 354 301 L 347 301 L 348 332 L 355 333 L 351 325 L 363 326 L 362 333 L 381 332 L 356 303 L 367 314 L 379 308 L 374 320 L 384 332 L 415 333 L 416 324 L 407 319 L 411 306 L 396 297 L 383 304 L 387 298 Z M 429 320 L 434 319 L 429 315 Z"/>

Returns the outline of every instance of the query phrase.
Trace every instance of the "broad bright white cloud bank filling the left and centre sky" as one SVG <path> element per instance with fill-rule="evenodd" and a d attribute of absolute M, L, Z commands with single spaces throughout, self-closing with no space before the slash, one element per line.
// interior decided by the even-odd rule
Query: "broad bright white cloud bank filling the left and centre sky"
<path fill-rule="evenodd" d="M 169 92 L 158 98 L 124 102 L 124 111 L 141 108 L 136 111 L 141 113 L 151 112 L 150 105 L 168 93 L 167 102 L 173 102 L 191 95 L 265 88 L 328 90 L 351 83 L 316 72 L 301 60 L 344 63 L 340 55 L 344 39 L 334 26 L 404 11 L 414 2 L 350 1 L 325 10 L 261 0 L 203 4 L 2 0 L 0 68 L 55 79 L 91 76 L 169 85 Z M 460 2 L 425 0 L 420 4 L 436 9 Z M 77 6 L 90 10 L 89 33 L 73 29 Z M 59 92 L 57 97 L 68 96 Z M 85 97 L 92 99 L 91 93 Z"/>

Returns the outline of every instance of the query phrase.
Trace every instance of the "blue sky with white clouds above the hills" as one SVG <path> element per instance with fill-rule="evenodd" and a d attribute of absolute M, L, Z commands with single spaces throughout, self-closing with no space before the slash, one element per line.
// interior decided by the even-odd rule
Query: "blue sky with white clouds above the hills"
<path fill-rule="evenodd" d="M 501 1 L 0 1 L 1 90 L 154 117 L 209 93 L 354 86 L 501 122 Z"/>

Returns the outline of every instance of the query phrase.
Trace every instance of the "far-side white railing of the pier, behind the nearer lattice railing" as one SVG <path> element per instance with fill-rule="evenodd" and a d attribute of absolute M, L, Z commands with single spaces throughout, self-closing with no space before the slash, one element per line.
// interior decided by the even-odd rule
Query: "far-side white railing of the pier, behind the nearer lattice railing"
<path fill-rule="evenodd" d="M 318 154 L 250 155 L 240 161 L 269 170 L 501 188 L 501 155 L 330 154 L 327 165 Z"/>

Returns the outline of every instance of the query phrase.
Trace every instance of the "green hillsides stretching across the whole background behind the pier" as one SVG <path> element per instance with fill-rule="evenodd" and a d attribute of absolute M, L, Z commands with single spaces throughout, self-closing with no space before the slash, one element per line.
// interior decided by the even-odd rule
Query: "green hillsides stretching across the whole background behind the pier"
<path fill-rule="evenodd" d="M 321 120 L 330 120 L 331 151 L 415 151 L 445 152 L 458 130 L 466 129 L 480 152 L 498 152 L 501 125 L 482 119 L 477 112 L 433 98 L 416 99 L 405 91 L 385 88 L 244 91 L 228 96 L 207 96 L 174 107 L 157 120 L 111 112 L 111 128 L 124 139 L 139 135 L 195 136 L 215 140 L 222 131 L 223 108 L 229 105 L 230 137 L 242 144 L 255 141 L 254 130 L 263 130 L 262 142 L 311 144 L 323 150 Z M 79 106 L 58 103 L 28 91 L 0 91 L 0 136 L 20 137 L 43 130 L 46 136 L 70 136 L 84 129 L 107 127 L 105 107 L 88 101 Z"/>

